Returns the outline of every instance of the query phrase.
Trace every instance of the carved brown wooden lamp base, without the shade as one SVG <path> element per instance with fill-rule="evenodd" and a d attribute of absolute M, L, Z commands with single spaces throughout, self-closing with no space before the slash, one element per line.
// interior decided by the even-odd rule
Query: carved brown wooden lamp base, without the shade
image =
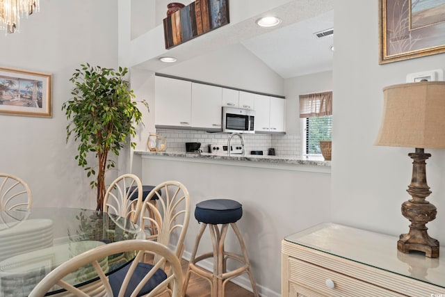
<path fill-rule="evenodd" d="M 430 187 L 426 183 L 426 163 L 431 154 L 423 152 L 423 148 L 416 148 L 415 153 L 408 154 L 413 159 L 412 179 L 407 192 L 412 199 L 402 204 L 402 214 L 410 220 L 410 232 L 401 234 L 397 241 L 397 249 L 401 252 L 417 250 L 425 252 L 426 257 L 439 257 L 439 241 L 428 235 L 426 223 L 436 218 L 437 209 L 425 198 L 430 195 Z"/>

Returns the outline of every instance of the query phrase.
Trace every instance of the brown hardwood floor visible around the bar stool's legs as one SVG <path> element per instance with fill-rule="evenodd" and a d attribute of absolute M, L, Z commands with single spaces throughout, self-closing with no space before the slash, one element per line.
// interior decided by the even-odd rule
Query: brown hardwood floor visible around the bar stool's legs
<path fill-rule="evenodd" d="M 182 271 L 184 271 L 184 277 L 186 276 L 188 261 L 182 259 Z M 253 296 L 252 292 L 239 287 L 233 282 L 229 282 L 225 286 L 226 297 L 250 297 Z M 184 297 L 210 297 L 210 284 L 204 279 L 192 273 L 190 281 L 188 282 L 187 293 Z"/>

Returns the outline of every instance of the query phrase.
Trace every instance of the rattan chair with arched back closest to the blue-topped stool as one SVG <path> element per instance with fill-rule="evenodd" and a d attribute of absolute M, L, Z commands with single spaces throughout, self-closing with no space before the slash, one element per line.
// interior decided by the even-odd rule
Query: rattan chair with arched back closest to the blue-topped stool
<path fill-rule="evenodd" d="M 154 196 L 158 199 L 153 199 Z M 186 186 L 168 181 L 155 186 L 144 198 L 139 225 L 144 228 L 146 239 L 175 246 L 175 253 L 181 259 L 189 218 L 190 195 Z"/>

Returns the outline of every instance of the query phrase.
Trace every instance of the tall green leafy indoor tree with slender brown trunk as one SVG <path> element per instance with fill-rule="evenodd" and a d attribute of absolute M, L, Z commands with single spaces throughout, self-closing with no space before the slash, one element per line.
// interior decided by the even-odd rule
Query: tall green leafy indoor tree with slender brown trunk
<path fill-rule="evenodd" d="M 136 125 L 142 121 L 133 90 L 125 80 L 126 67 L 113 70 L 90 64 L 81 64 L 70 81 L 74 83 L 72 99 L 65 102 L 62 110 L 68 123 L 67 141 L 71 135 L 79 141 L 75 159 L 82 166 L 88 177 L 96 177 L 90 182 L 91 188 L 97 188 L 96 210 L 103 210 L 106 193 L 105 172 L 115 167 L 115 161 L 109 159 L 109 153 L 119 155 L 119 151 L 128 143 L 130 136 L 136 135 Z M 145 100 L 141 101 L 148 109 Z M 91 154 L 97 164 L 88 165 Z M 97 170 L 96 170 L 97 168 Z"/>

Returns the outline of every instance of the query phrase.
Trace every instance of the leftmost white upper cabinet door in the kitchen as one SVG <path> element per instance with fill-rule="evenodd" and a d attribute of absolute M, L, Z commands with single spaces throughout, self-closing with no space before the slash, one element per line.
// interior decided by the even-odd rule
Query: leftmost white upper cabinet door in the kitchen
<path fill-rule="evenodd" d="M 154 124 L 191 127 L 191 99 L 191 81 L 156 76 Z"/>

